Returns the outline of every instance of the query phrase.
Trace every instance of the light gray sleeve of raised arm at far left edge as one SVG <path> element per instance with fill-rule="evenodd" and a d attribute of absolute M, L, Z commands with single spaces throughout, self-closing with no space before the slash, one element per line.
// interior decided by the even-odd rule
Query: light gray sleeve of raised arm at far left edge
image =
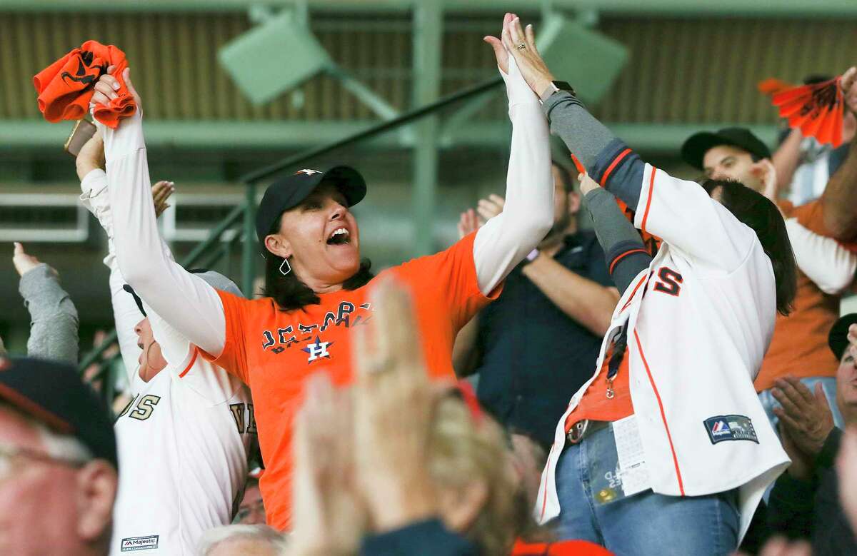
<path fill-rule="evenodd" d="M 41 264 L 21 276 L 18 290 L 30 312 L 27 356 L 77 364 L 77 309 L 51 268 Z"/>

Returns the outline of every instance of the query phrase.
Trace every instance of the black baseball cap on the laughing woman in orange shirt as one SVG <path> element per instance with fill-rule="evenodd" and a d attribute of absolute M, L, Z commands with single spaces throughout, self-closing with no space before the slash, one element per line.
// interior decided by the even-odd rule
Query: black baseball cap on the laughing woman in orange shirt
<path fill-rule="evenodd" d="M 299 170 L 281 177 L 265 190 L 256 212 L 256 236 L 260 242 L 271 232 L 283 212 L 298 206 L 321 182 L 333 183 L 345 195 L 348 206 L 355 206 L 366 196 L 366 181 L 351 166 L 334 166 L 330 170 Z"/>

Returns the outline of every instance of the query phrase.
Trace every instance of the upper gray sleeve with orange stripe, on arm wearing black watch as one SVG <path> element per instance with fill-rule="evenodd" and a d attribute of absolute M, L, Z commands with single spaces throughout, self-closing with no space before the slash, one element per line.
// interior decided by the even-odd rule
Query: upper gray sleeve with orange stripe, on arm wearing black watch
<path fill-rule="evenodd" d="M 550 122 L 550 133 L 566 143 L 590 177 L 627 206 L 636 208 L 643 185 L 644 162 L 586 111 L 572 93 L 552 94 L 544 101 L 542 111 Z"/>

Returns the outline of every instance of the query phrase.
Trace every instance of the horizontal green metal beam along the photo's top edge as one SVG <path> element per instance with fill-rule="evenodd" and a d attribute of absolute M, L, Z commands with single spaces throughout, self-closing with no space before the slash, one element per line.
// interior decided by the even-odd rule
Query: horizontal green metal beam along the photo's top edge
<path fill-rule="evenodd" d="M 21 12 L 237 12 L 247 11 L 260 0 L 3 0 L 0 11 Z M 264 0 L 272 8 L 293 7 L 295 0 Z M 421 0 L 306 0 L 313 11 L 410 11 Z M 536 9 L 532 0 L 442 0 L 446 12 L 491 12 Z M 826 18 L 857 16 L 854 0 L 551 0 L 553 9 L 596 9 L 602 14 L 661 16 L 722 15 L 758 17 Z"/>

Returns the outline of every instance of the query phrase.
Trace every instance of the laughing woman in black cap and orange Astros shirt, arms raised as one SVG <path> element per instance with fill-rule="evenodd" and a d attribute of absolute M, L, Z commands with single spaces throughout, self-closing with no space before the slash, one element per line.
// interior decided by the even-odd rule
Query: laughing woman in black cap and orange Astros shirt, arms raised
<path fill-rule="evenodd" d="M 452 343 L 473 314 L 499 294 L 506 274 L 547 235 L 554 221 L 548 126 L 539 99 L 506 52 L 495 52 L 506 81 L 512 119 L 506 206 L 469 236 L 439 254 L 382 274 L 413 290 L 423 352 L 434 377 L 452 378 Z M 93 104 L 107 104 L 117 79 L 95 84 Z M 141 99 L 123 77 L 135 96 Z M 298 170 L 268 188 L 256 218 L 267 260 L 265 295 L 248 300 L 215 290 L 165 256 L 151 209 L 141 111 L 117 129 L 99 124 L 114 242 L 123 277 L 202 356 L 248 383 L 253 392 L 262 457 L 260 488 L 268 524 L 291 519 L 291 420 L 303 381 L 326 370 L 333 382 L 352 380 L 351 328 L 372 318 L 369 261 L 351 207 L 366 183 L 357 170 Z"/>

